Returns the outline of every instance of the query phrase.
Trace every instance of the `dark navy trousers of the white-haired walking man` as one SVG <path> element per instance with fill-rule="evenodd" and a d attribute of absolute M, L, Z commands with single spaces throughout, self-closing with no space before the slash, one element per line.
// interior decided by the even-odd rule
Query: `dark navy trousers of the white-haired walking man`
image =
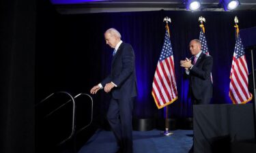
<path fill-rule="evenodd" d="M 132 153 L 132 109 L 134 98 L 111 99 L 107 119 L 119 150 Z"/>

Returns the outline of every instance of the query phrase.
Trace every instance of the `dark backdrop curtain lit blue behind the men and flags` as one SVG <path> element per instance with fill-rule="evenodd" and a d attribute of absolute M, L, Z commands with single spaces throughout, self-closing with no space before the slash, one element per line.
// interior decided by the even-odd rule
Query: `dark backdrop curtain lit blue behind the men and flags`
<path fill-rule="evenodd" d="M 178 100 L 170 105 L 171 118 L 191 116 L 187 97 L 188 81 L 182 78 L 180 60 L 190 57 L 188 43 L 199 38 L 199 16 L 206 18 L 205 35 L 214 57 L 214 98 L 212 103 L 231 103 L 229 73 L 235 46 L 233 19 L 238 16 L 240 29 L 255 27 L 255 12 L 122 12 L 61 15 L 53 7 L 42 7 L 38 18 L 36 52 L 36 103 L 51 92 L 66 90 L 72 95 L 89 93 L 108 73 L 112 50 L 106 46 L 103 33 L 115 27 L 136 54 L 139 96 L 134 107 L 135 118 L 162 118 L 151 95 L 152 80 L 165 33 L 165 16 L 169 24 L 175 61 Z M 249 72 L 251 54 L 246 52 Z M 255 56 L 255 55 L 254 55 Z M 94 97 L 95 120 L 102 120 L 109 95 L 100 91 Z M 104 119 L 104 117 L 103 117 Z"/>

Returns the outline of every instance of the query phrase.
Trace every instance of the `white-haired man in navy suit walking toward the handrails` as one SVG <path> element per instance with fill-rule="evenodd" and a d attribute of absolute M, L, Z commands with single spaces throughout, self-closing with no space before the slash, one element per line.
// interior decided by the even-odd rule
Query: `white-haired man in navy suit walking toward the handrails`
<path fill-rule="evenodd" d="M 137 96 L 137 78 L 135 73 L 135 56 L 132 46 L 121 40 L 116 29 L 104 33 L 106 44 L 114 48 L 111 73 L 100 84 L 91 88 L 91 94 L 104 88 L 111 92 L 111 101 L 107 119 L 117 140 L 117 152 L 132 152 L 132 108 Z"/>

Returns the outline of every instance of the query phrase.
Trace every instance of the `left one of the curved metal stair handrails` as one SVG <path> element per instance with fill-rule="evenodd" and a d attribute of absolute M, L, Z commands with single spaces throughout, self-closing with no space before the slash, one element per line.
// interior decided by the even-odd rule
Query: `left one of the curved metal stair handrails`
<path fill-rule="evenodd" d="M 42 101 L 40 101 L 40 103 L 37 103 L 35 106 L 37 107 L 38 105 L 40 105 L 41 103 L 43 103 L 44 101 L 46 101 L 47 99 L 53 97 L 53 95 L 56 95 L 56 94 L 65 94 L 65 95 L 68 95 L 68 97 L 70 97 L 70 100 L 67 101 L 66 103 L 64 103 L 63 105 L 66 105 L 70 101 L 72 101 L 72 103 L 73 103 L 73 109 L 72 109 L 72 131 L 71 131 L 70 135 L 66 139 L 63 139 L 63 141 L 60 141 L 59 143 L 57 143 L 57 146 L 60 146 L 61 144 L 66 142 L 68 139 L 70 139 L 74 135 L 74 131 L 75 131 L 75 102 L 74 102 L 74 98 L 72 97 L 72 95 L 70 95 L 70 93 L 65 92 L 65 91 L 53 92 L 53 93 L 51 93 L 51 95 L 48 95 L 48 97 L 42 99 Z M 44 116 L 44 118 L 47 118 L 48 116 L 51 116 L 51 114 L 55 113 L 58 109 L 63 107 L 63 105 L 61 105 L 61 106 L 57 107 L 56 109 L 54 109 L 52 112 L 50 112 L 49 114 Z"/>

